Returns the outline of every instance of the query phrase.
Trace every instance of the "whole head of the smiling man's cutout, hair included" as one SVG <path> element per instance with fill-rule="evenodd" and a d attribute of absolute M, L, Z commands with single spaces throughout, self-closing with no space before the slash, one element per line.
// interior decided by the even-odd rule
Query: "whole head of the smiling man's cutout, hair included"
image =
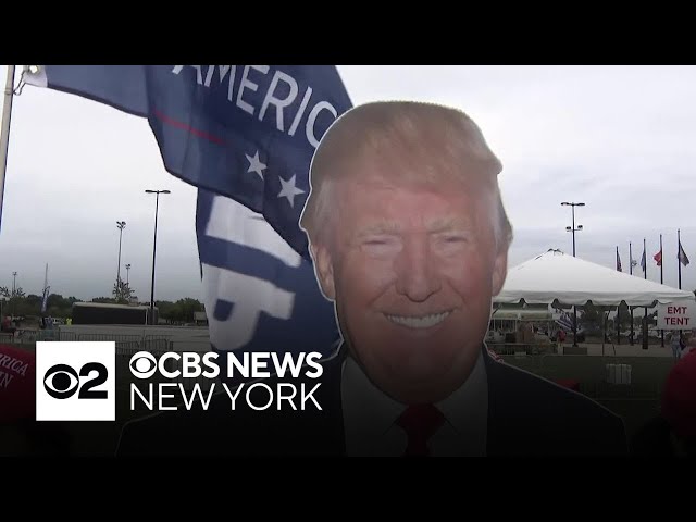
<path fill-rule="evenodd" d="M 375 102 L 323 136 L 300 225 L 350 358 L 403 403 L 473 371 L 505 282 L 500 161 L 461 111 Z"/>

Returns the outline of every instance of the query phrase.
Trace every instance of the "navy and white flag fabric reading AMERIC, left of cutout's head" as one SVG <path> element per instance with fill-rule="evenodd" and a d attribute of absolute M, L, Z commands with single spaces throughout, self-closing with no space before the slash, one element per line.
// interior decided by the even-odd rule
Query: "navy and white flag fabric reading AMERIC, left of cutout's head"
<path fill-rule="evenodd" d="M 147 119 L 166 171 L 198 187 L 215 349 L 333 350 L 299 217 L 314 150 L 351 108 L 334 65 L 46 65 L 26 80 Z"/>

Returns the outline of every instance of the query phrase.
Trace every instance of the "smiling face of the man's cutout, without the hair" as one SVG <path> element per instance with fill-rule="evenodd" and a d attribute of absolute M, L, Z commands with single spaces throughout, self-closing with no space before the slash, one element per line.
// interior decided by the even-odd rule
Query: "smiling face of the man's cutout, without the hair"
<path fill-rule="evenodd" d="M 373 383 L 402 402 L 442 400 L 473 369 L 505 281 L 492 188 L 355 166 L 332 187 L 330 233 L 312 246 L 320 283 Z"/>

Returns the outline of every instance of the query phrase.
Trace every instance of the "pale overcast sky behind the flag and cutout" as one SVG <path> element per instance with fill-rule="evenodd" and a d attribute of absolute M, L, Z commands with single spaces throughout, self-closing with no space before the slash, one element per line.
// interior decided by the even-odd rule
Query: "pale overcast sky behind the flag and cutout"
<path fill-rule="evenodd" d="M 482 127 L 504 163 L 500 185 L 514 226 L 510 265 L 549 248 L 624 271 L 629 241 L 648 278 L 663 234 L 664 283 L 678 286 L 676 229 L 696 288 L 696 67 L 339 66 L 355 104 L 415 99 L 458 107 Z M 7 67 L 0 66 L 2 85 Z M 18 73 L 17 78 L 18 80 Z M 16 96 L 0 228 L 0 286 L 110 296 L 122 266 L 149 300 L 154 196 L 160 197 L 158 299 L 202 299 L 195 231 L 196 188 L 167 174 L 146 120 L 76 96 L 26 86 Z M 641 268 L 634 274 L 643 276 Z M 122 268 L 122 277 L 125 278 Z"/>

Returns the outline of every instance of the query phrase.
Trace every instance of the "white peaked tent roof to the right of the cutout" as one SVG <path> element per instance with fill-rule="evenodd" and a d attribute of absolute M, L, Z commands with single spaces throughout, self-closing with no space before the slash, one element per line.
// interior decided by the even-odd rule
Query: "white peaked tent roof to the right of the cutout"
<path fill-rule="evenodd" d="M 584 306 L 592 301 L 593 304 L 617 307 L 624 301 L 630 307 L 654 307 L 658 302 L 684 300 L 694 301 L 694 293 L 551 249 L 510 269 L 502 291 L 494 298 L 494 303 L 524 301 L 530 304 Z"/>

